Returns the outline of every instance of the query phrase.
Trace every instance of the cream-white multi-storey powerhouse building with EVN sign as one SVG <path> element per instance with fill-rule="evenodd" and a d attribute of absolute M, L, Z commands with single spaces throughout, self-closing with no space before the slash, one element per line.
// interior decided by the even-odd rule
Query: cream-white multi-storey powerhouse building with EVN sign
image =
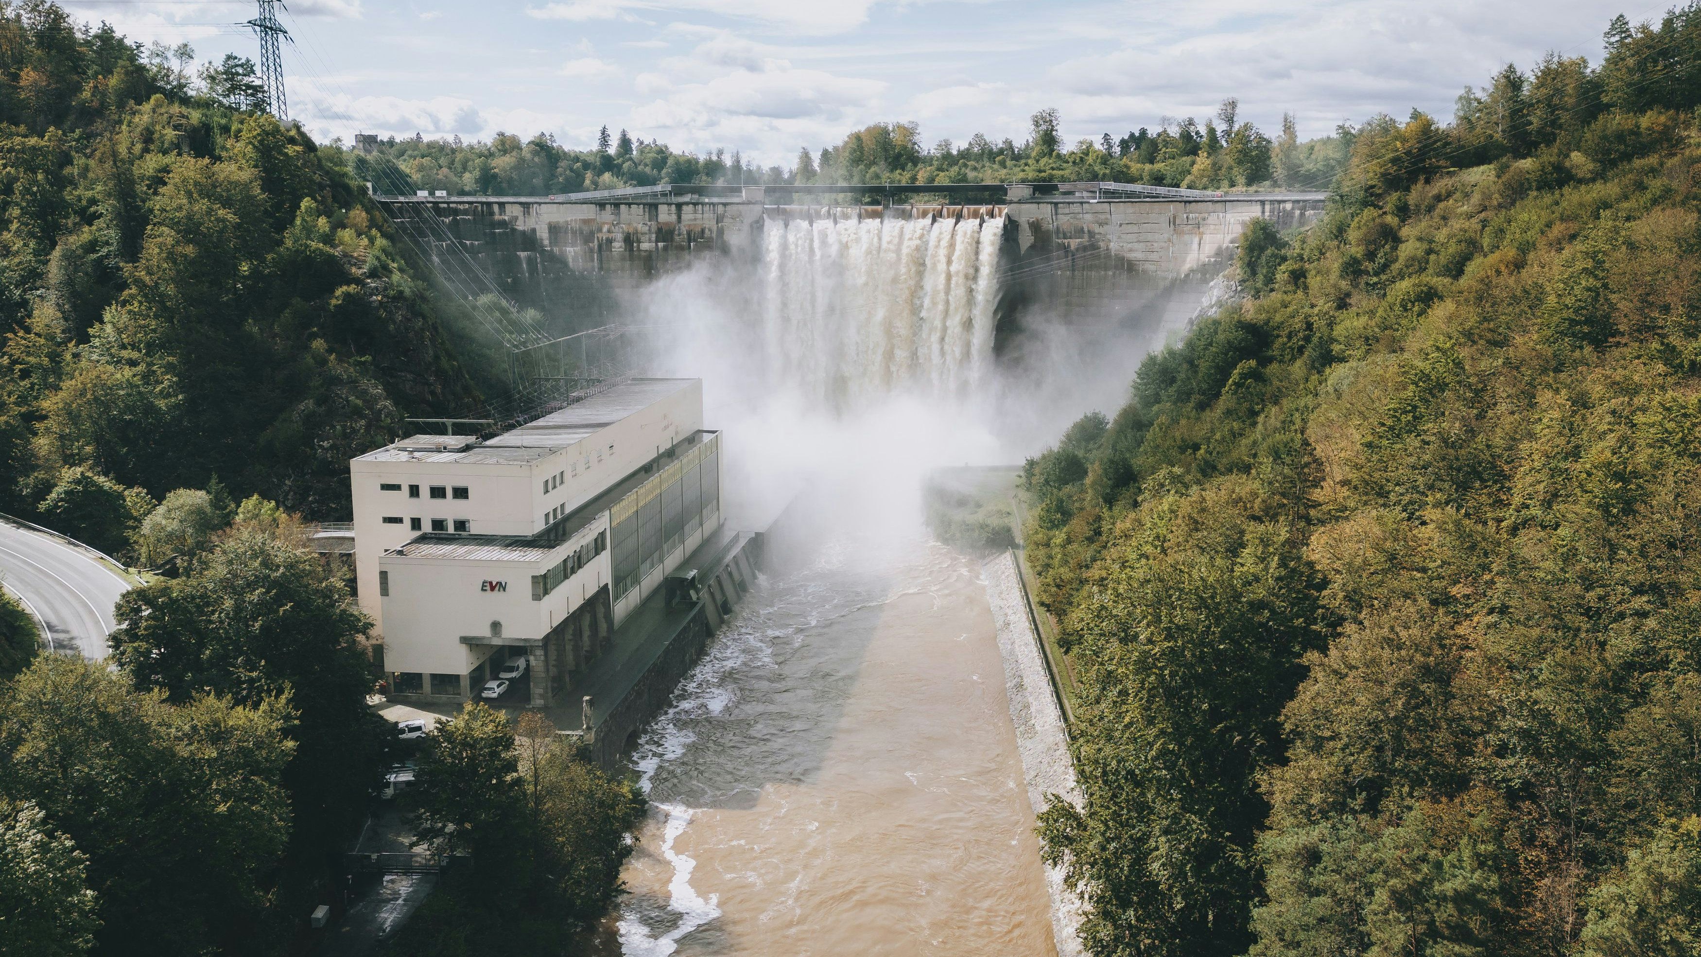
<path fill-rule="evenodd" d="M 701 379 L 633 379 L 493 439 L 413 435 L 350 462 L 361 607 L 390 695 L 461 700 L 527 660 L 548 705 L 721 527 Z"/>

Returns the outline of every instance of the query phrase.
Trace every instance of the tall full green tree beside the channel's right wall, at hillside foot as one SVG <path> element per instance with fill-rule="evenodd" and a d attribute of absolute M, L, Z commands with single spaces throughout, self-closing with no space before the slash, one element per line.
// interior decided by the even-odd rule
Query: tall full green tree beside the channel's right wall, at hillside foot
<path fill-rule="evenodd" d="M 1240 954 L 1257 887 L 1255 775 L 1315 641 L 1310 571 L 1259 491 L 1225 479 L 1140 507 L 1078 636 L 1072 738 L 1085 809 L 1041 814 L 1046 860 L 1085 892 L 1094 954 Z"/>

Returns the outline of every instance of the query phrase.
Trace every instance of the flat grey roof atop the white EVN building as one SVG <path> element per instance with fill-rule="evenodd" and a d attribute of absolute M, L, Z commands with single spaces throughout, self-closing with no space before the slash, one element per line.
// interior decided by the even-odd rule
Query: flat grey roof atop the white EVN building
<path fill-rule="evenodd" d="M 364 456 L 357 462 L 461 462 L 475 466 L 503 466 L 536 462 L 560 449 L 640 413 L 655 403 L 675 396 L 699 379 L 631 379 L 606 393 L 580 399 L 563 410 L 527 422 L 480 442 L 471 435 L 412 435 L 391 442 Z"/>

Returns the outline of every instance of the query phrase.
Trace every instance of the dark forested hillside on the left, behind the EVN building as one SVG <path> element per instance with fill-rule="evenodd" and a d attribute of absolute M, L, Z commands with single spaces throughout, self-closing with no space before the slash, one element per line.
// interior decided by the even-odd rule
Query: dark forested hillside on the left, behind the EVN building
<path fill-rule="evenodd" d="M 255 90 L 0 5 L 0 510 L 218 476 L 345 518 L 350 456 L 480 401 L 342 155 Z"/>

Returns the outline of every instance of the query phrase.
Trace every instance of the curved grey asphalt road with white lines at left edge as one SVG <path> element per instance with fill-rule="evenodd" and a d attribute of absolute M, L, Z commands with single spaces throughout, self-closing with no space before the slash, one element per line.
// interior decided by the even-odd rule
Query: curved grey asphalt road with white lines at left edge
<path fill-rule="evenodd" d="M 129 590 L 94 552 L 63 539 L 0 520 L 0 585 L 46 631 L 56 651 L 105 658 L 117 627 L 112 605 Z"/>

